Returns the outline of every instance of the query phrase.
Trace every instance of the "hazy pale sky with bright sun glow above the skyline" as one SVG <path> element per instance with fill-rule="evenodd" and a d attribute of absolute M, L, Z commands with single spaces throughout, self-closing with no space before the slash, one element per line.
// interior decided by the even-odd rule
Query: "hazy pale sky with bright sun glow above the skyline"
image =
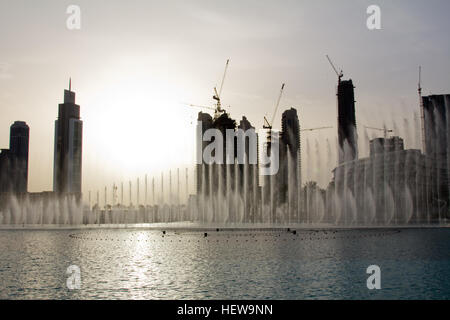
<path fill-rule="evenodd" d="M 366 26 L 369 5 L 381 29 Z M 70 30 L 66 9 L 81 9 Z M 302 132 L 302 177 L 326 187 L 336 165 L 337 77 L 355 85 L 360 156 L 386 126 L 420 148 L 417 94 L 450 92 L 447 0 L 0 1 L 0 148 L 15 120 L 30 126 L 29 191 L 52 189 L 54 121 L 69 77 L 84 122 L 83 192 L 159 179 L 189 168 L 195 124 L 212 105 L 225 61 L 222 102 L 260 129 L 294 107 Z M 190 179 L 193 192 L 193 179 Z M 134 182 L 135 183 L 135 182 Z"/>

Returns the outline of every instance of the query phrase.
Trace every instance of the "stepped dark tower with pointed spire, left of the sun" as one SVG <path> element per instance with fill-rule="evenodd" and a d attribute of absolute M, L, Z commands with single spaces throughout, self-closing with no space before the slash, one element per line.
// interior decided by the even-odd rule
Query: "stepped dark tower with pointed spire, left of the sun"
<path fill-rule="evenodd" d="M 80 106 L 75 104 L 75 92 L 69 82 L 55 121 L 53 190 L 57 193 L 81 196 L 82 137 Z"/>

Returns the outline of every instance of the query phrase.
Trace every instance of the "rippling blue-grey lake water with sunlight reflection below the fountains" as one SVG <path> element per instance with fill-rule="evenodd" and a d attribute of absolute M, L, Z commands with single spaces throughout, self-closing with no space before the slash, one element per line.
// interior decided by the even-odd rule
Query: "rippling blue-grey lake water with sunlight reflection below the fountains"
<path fill-rule="evenodd" d="M 0 298 L 449 299 L 450 229 L 0 231 Z M 381 268 L 368 290 L 366 268 Z M 66 269 L 81 268 L 68 290 Z"/>

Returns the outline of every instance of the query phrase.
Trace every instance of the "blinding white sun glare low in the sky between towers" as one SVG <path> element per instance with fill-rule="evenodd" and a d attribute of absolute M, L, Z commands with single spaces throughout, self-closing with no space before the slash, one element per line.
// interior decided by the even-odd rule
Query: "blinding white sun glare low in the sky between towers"
<path fill-rule="evenodd" d="M 86 147 L 96 148 L 89 154 L 101 158 L 95 159 L 98 169 L 142 176 L 192 164 L 193 110 L 180 103 L 175 83 L 158 75 L 122 74 L 94 100 L 86 107 L 95 114 L 85 135 Z"/>

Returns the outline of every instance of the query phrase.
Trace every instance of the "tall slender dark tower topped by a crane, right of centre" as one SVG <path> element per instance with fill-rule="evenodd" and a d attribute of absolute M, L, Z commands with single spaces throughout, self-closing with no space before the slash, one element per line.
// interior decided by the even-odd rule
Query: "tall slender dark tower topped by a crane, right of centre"
<path fill-rule="evenodd" d="M 352 80 L 341 80 L 337 89 L 339 164 L 358 158 L 355 94 Z"/>

